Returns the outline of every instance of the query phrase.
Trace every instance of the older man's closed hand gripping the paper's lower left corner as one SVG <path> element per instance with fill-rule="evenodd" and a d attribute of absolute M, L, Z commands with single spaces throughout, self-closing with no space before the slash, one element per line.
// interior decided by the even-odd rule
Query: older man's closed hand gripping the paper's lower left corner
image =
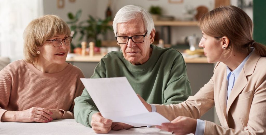
<path fill-rule="evenodd" d="M 100 112 L 97 112 L 92 115 L 92 121 L 90 124 L 95 133 L 106 134 L 111 130 L 112 122 L 112 120 L 105 119 Z"/>

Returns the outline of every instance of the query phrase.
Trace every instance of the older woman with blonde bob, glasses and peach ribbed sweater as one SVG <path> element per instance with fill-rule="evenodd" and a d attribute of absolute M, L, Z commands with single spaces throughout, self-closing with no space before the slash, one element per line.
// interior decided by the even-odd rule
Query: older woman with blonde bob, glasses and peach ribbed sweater
<path fill-rule="evenodd" d="M 84 75 L 65 62 L 72 41 L 68 25 L 56 15 L 45 15 L 32 20 L 23 37 L 25 59 L 0 72 L 0 120 L 73 119 Z"/>

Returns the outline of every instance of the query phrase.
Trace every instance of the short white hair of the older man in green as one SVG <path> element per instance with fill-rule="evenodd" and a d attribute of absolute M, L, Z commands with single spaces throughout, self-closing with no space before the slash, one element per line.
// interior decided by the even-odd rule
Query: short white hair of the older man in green
<path fill-rule="evenodd" d="M 155 29 L 151 14 L 144 8 L 136 5 L 127 5 L 117 11 L 113 21 L 114 34 L 117 34 L 118 23 L 126 23 L 138 17 L 142 17 L 145 29 L 148 31 L 147 34 L 151 34 L 152 29 Z"/>

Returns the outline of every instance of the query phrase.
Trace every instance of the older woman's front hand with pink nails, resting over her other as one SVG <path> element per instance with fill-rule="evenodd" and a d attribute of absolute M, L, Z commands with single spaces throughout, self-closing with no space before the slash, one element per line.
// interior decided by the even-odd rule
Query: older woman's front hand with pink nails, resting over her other
<path fill-rule="evenodd" d="M 19 122 L 41 122 L 47 123 L 53 120 L 52 112 L 46 108 L 32 107 L 24 111 L 17 111 L 15 114 L 16 121 Z"/>

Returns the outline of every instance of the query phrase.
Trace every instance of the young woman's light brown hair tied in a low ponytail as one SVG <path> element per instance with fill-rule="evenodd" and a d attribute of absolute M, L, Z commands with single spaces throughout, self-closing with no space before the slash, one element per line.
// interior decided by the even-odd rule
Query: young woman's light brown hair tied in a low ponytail
<path fill-rule="evenodd" d="M 253 23 L 250 17 L 235 6 L 221 6 L 204 14 L 200 21 L 200 29 L 207 35 L 217 39 L 226 36 L 229 39 L 227 54 L 232 51 L 250 53 L 251 48 L 260 56 L 266 56 L 266 46 L 253 43 Z"/>

